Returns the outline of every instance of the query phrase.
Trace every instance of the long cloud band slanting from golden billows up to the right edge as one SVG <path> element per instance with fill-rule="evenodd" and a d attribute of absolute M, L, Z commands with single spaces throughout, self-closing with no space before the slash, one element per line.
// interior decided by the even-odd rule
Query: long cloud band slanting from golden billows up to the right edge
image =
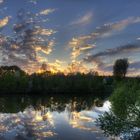
<path fill-rule="evenodd" d="M 123 29 L 125 29 L 128 25 L 136 24 L 140 22 L 140 17 L 129 17 L 114 23 L 107 23 L 103 26 L 97 27 L 96 30 L 88 35 L 72 38 L 72 40 L 69 42 L 70 48 L 72 48 L 71 52 L 71 59 L 74 62 L 76 58 L 81 54 L 87 54 L 87 52 L 92 51 L 95 48 L 95 42 L 97 39 L 102 39 L 104 37 L 111 36 L 114 32 L 119 32 Z M 126 47 L 127 48 L 127 47 Z M 119 49 L 119 48 L 117 48 Z M 104 53 L 110 55 L 113 53 L 116 53 L 115 51 L 119 50 L 112 50 L 110 53 L 109 50 L 107 52 L 103 52 L 100 55 L 103 55 Z M 125 50 L 123 50 L 125 51 Z M 120 51 L 121 52 L 121 51 Z M 104 55 L 105 55 L 104 54 Z M 97 58 L 96 58 L 97 60 Z M 99 61 L 99 60 L 97 60 Z"/>

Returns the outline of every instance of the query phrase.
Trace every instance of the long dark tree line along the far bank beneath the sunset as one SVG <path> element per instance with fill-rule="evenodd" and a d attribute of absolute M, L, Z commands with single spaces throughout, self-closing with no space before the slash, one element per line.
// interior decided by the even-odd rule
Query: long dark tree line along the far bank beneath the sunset
<path fill-rule="evenodd" d="M 1 93 L 90 93 L 96 97 L 104 98 L 112 92 L 112 79 L 104 82 L 105 77 L 96 76 L 92 73 L 74 73 L 64 75 L 63 73 L 52 74 L 50 71 L 28 75 L 20 68 L 13 69 L 12 66 L 3 69 L 0 73 Z M 10 90 L 9 90 L 10 89 Z"/>

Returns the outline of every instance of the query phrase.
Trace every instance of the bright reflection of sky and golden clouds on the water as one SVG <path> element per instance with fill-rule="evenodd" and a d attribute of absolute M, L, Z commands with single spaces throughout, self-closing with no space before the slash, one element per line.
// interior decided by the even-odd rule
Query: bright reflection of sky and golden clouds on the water
<path fill-rule="evenodd" d="M 52 98 L 51 98 L 52 100 Z M 54 102 L 54 101 L 53 101 Z M 80 104 L 80 103 L 79 103 Z M 64 110 L 58 111 L 54 102 L 50 107 L 41 106 L 35 109 L 28 106 L 23 112 L 0 113 L 0 139 L 3 140 L 45 140 L 47 139 L 99 139 L 106 140 L 96 127 L 95 120 L 99 114 L 108 111 L 110 103 L 103 107 L 78 109 L 78 102 L 72 101 L 64 105 Z"/>

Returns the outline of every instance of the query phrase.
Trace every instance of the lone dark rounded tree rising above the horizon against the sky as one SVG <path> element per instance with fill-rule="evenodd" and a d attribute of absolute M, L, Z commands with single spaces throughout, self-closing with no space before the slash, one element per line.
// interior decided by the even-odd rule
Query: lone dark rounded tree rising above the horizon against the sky
<path fill-rule="evenodd" d="M 118 59 L 113 66 L 113 74 L 115 77 L 125 77 L 129 63 L 128 59 Z"/>

